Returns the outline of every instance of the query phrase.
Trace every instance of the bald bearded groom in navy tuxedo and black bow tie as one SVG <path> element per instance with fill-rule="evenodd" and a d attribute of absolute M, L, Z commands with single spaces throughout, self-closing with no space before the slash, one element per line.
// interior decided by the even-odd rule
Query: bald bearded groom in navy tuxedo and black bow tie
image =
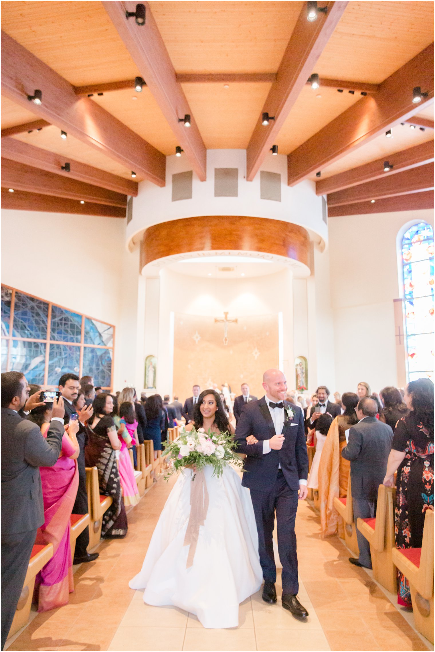
<path fill-rule="evenodd" d="M 263 375 L 266 396 L 244 406 L 236 426 L 237 451 L 246 453 L 242 485 L 251 491 L 263 570 L 262 599 L 276 602 L 272 533 L 277 519 L 283 565 L 281 603 L 295 616 L 308 615 L 297 596 L 298 556 L 294 522 L 298 500 L 307 497 L 308 454 L 302 409 L 287 403 L 287 381 L 278 369 Z M 299 495 L 298 495 L 299 490 Z"/>

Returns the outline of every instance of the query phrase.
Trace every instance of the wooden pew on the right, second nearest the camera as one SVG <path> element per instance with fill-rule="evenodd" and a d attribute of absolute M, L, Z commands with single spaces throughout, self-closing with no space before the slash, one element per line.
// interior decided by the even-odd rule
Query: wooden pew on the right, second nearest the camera
<path fill-rule="evenodd" d="M 395 499 L 395 487 L 380 484 L 376 518 L 358 518 L 356 524 L 370 544 L 374 579 L 391 593 L 397 591 L 396 567 L 391 556 L 394 547 Z"/>

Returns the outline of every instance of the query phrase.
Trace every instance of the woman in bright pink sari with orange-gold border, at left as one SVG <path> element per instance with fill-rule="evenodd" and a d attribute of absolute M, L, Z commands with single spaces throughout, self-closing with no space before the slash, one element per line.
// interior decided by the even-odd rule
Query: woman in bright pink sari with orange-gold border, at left
<path fill-rule="evenodd" d="M 38 423 L 44 437 L 51 419 L 51 408 L 52 404 L 46 404 L 32 411 L 33 421 Z M 45 522 L 38 529 L 35 543 L 52 543 L 54 554 L 36 575 L 33 600 L 38 602 L 38 612 L 68 604 L 69 593 L 74 591 L 70 517 L 79 484 L 76 462 L 79 455 L 76 438 L 79 422 L 71 421 L 66 428 L 68 432 L 65 432 L 62 439 L 59 460 L 54 466 L 40 468 Z"/>

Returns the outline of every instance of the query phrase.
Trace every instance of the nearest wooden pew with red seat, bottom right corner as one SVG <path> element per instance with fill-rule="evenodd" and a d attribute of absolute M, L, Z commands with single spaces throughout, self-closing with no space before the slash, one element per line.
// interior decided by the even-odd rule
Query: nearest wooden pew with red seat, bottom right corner
<path fill-rule="evenodd" d="M 393 563 L 411 589 L 415 629 L 434 642 L 434 511 L 427 509 L 421 548 L 393 548 Z"/>

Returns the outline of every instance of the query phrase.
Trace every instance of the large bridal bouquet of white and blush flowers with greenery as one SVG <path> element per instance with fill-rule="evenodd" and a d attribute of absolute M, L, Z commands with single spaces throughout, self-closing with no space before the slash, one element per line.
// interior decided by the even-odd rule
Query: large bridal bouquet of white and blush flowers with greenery
<path fill-rule="evenodd" d="M 169 478 L 183 467 L 193 469 L 193 477 L 205 466 L 212 466 L 213 475 L 222 475 L 227 464 L 242 467 L 242 460 L 234 452 L 236 444 L 228 432 L 205 432 L 204 428 L 192 428 L 189 432 L 182 429 L 175 441 L 164 444 L 165 450 L 161 456 L 169 464 L 165 479 Z"/>

